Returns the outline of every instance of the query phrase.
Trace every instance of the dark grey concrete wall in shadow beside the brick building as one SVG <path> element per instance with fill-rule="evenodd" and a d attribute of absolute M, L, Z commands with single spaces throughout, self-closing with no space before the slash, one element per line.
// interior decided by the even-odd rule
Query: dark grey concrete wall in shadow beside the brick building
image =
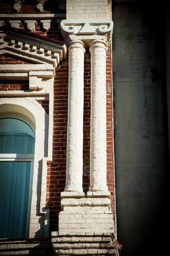
<path fill-rule="evenodd" d="M 112 13 L 116 209 L 122 256 L 159 253 L 166 225 L 164 27 L 161 7 L 144 2 L 116 4 Z"/>

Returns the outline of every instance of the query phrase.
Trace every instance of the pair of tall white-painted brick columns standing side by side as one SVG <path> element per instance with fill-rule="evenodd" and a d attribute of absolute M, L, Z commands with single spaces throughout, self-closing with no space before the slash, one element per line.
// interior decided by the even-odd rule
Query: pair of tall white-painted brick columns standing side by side
<path fill-rule="evenodd" d="M 91 53 L 90 187 L 108 191 L 106 133 L 107 43 L 94 40 Z M 83 192 L 84 43 L 69 44 L 69 93 L 65 192 Z"/>

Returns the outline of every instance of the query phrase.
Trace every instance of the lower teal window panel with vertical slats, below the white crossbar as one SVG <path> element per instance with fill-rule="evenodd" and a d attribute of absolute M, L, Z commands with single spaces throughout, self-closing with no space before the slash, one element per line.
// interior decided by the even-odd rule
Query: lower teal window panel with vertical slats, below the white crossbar
<path fill-rule="evenodd" d="M 31 162 L 1 162 L 0 238 L 25 238 Z"/>

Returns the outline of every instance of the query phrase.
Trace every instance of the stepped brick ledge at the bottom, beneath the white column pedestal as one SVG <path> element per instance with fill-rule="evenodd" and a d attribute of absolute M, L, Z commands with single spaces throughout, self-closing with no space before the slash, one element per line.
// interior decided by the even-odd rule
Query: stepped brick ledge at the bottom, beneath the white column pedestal
<path fill-rule="evenodd" d="M 119 256 L 121 245 L 105 234 L 86 236 L 59 236 L 52 232 L 52 247 L 55 256 L 61 255 L 110 255 Z"/>

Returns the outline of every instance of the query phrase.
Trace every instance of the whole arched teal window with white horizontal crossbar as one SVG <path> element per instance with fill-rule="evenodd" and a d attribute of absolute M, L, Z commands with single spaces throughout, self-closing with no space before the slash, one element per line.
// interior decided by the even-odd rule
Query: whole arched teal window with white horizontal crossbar
<path fill-rule="evenodd" d="M 0 119 L 0 238 L 28 236 L 35 134 L 26 122 Z"/>

